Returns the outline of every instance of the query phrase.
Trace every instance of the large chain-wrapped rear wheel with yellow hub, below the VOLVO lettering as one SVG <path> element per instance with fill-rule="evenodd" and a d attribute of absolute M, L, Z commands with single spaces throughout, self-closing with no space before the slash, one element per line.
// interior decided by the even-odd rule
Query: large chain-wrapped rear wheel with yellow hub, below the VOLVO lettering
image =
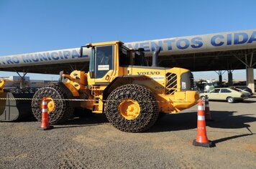
<path fill-rule="evenodd" d="M 159 107 L 155 95 L 146 87 L 125 84 L 111 92 L 106 100 L 105 113 L 109 122 L 118 130 L 142 132 L 155 124 Z"/>

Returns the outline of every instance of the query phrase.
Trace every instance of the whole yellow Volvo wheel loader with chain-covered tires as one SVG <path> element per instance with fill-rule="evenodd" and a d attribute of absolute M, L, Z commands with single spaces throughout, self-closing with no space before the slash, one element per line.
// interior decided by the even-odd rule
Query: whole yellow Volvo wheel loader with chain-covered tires
<path fill-rule="evenodd" d="M 199 98 L 188 69 L 158 67 L 160 48 L 152 56 L 152 66 L 143 49 L 129 49 L 119 41 L 87 44 L 81 47 L 81 57 L 88 50 L 88 72 L 61 72 L 58 84 L 37 90 L 32 100 L 37 120 L 42 97 L 47 97 L 51 124 L 65 122 L 76 107 L 82 107 L 105 113 L 119 130 L 142 132 L 154 125 L 160 112 L 180 112 Z"/>

